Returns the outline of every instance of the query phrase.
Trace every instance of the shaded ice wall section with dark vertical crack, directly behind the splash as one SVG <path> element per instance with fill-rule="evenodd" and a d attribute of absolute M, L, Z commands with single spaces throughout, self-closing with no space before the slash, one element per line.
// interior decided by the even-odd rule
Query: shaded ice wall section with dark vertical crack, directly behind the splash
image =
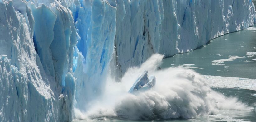
<path fill-rule="evenodd" d="M 119 11 L 114 57 L 117 58 L 113 66 L 121 77 L 129 67 L 140 65 L 152 54 L 159 53 L 164 9 L 162 0 L 116 0 L 116 3 Z"/>

